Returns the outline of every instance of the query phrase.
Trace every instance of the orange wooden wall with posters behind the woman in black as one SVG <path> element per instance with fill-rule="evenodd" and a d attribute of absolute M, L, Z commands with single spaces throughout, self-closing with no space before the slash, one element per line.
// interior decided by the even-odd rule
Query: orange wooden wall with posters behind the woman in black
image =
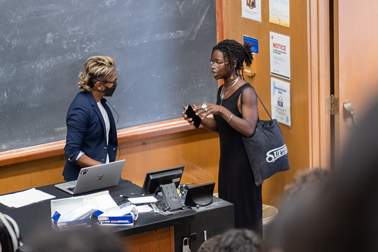
<path fill-rule="evenodd" d="M 243 3 L 245 1 L 243 0 Z M 291 123 L 280 124 L 288 148 L 291 169 L 278 173 L 263 183 L 263 203 L 278 204 L 283 187 L 292 181 L 293 174 L 309 168 L 309 123 L 308 123 L 308 57 L 307 57 L 307 3 L 290 1 L 290 28 L 269 23 L 269 0 L 262 0 L 262 22 L 241 17 L 241 0 L 222 1 L 224 39 L 242 43 L 243 35 L 259 40 L 259 54 L 255 56 L 256 75 L 245 77 L 253 85 L 264 105 L 270 111 L 270 51 L 269 32 L 290 36 L 290 99 Z M 279 79 L 279 78 L 278 78 Z M 268 119 L 262 106 L 261 119 Z"/>

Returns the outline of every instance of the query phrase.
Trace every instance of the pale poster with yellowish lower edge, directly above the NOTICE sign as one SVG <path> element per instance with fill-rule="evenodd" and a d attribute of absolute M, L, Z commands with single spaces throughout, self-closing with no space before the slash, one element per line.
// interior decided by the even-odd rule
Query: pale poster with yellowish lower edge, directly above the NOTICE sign
<path fill-rule="evenodd" d="M 269 0 L 269 22 L 290 27 L 289 0 Z"/>

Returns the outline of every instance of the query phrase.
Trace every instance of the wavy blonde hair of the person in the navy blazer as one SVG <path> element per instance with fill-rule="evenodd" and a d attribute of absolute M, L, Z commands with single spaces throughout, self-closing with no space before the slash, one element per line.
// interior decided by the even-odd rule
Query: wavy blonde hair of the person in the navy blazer
<path fill-rule="evenodd" d="M 84 71 L 79 73 L 79 89 L 89 92 L 96 81 L 105 81 L 115 71 L 114 59 L 108 56 L 92 56 L 84 64 Z"/>

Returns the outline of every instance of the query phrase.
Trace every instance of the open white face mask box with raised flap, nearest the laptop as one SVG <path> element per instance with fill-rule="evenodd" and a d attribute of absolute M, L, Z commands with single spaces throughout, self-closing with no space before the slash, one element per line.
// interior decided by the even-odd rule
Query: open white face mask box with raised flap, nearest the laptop
<path fill-rule="evenodd" d="M 88 227 L 91 225 L 91 215 L 97 209 L 116 207 L 117 204 L 108 191 L 94 193 L 85 196 L 70 197 L 51 201 L 51 223 L 56 230 Z M 75 217 L 75 211 L 83 209 L 85 218 L 68 221 L 69 217 Z M 68 217 L 69 216 L 69 217 Z M 83 216 L 81 216 L 83 217 Z"/>

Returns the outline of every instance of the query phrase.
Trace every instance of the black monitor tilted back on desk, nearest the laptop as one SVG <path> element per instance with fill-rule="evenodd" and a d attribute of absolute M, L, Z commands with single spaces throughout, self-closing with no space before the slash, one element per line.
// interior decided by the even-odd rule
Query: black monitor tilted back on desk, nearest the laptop
<path fill-rule="evenodd" d="M 141 195 L 149 195 L 158 192 L 161 184 L 169 184 L 174 182 L 177 188 L 180 184 L 183 171 L 184 166 L 177 166 L 173 168 L 147 172 L 144 179 Z"/>

